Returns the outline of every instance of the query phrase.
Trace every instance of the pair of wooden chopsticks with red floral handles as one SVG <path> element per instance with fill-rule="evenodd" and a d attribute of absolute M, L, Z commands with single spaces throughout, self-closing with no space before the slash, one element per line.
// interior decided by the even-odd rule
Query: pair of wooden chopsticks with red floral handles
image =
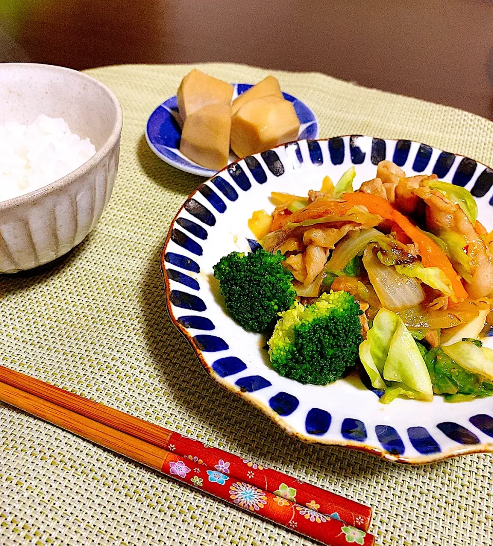
<path fill-rule="evenodd" d="M 324 544 L 374 543 L 368 507 L 4 366 L 0 400 Z"/>

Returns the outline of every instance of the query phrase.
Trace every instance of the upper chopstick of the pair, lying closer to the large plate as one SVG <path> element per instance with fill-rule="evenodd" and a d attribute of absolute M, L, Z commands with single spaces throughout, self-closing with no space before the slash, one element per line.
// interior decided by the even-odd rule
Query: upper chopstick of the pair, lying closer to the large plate
<path fill-rule="evenodd" d="M 198 440 L 187 438 L 177 432 L 53 387 L 53 385 L 15 372 L 5 366 L 0 366 L 0 382 L 31 393 L 103 425 L 115 426 L 115 423 L 118 423 L 118 430 L 121 432 L 186 458 L 191 465 L 194 463 L 205 464 L 231 479 L 249 483 L 272 495 L 284 498 L 288 502 L 296 502 L 312 512 L 328 515 L 332 519 L 340 519 L 363 531 L 367 531 L 369 528 L 371 508 L 356 501 L 263 467 L 257 462 L 244 460 L 218 448 L 207 447 Z M 311 514 L 308 518 L 310 517 Z"/>

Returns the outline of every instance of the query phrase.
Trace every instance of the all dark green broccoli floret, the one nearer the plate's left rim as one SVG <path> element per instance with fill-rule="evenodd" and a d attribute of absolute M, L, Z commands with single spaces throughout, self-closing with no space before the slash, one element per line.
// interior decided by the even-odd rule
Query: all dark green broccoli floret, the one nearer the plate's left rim
<path fill-rule="evenodd" d="M 214 277 L 226 301 L 226 310 L 245 330 L 270 333 L 278 313 L 294 302 L 293 275 L 282 267 L 286 258 L 263 248 L 242 254 L 231 252 L 214 265 Z"/>

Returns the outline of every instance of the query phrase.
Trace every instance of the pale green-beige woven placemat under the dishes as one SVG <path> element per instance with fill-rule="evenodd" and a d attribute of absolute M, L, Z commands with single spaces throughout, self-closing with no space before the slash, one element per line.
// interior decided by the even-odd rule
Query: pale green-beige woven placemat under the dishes
<path fill-rule="evenodd" d="M 202 69 L 226 81 L 267 74 L 233 64 Z M 491 455 L 404 467 L 300 443 L 212 382 L 171 324 L 159 254 L 202 179 L 161 162 L 143 131 L 189 70 L 88 71 L 123 108 L 115 191 L 97 228 L 62 262 L 0 277 L 0 362 L 368 503 L 378 544 L 490 546 Z M 321 137 L 414 139 L 493 163 L 488 120 L 321 74 L 270 73 L 314 109 Z M 314 544 L 4 405 L 0 436 L 2 545 Z"/>

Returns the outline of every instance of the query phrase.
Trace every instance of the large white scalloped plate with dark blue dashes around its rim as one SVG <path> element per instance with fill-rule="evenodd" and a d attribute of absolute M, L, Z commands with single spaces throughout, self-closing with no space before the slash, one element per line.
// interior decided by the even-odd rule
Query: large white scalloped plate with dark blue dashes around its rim
<path fill-rule="evenodd" d="M 270 192 L 304 195 L 319 188 L 325 175 L 338 180 L 351 165 L 358 187 L 375 177 L 382 159 L 408 176 L 433 172 L 470 189 L 480 222 L 493 229 L 493 170 L 473 159 L 408 140 L 357 135 L 279 146 L 229 165 L 179 210 L 161 257 L 171 319 L 209 376 L 304 441 L 411 464 L 493 452 L 493 398 L 446 403 L 435 396 L 432 402 L 397 399 L 382 405 L 357 375 L 326 387 L 302 385 L 280 377 L 263 349 L 266 340 L 244 331 L 224 311 L 213 265 L 254 245 L 248 218 L 254 210 L 273 209 Z"/>

